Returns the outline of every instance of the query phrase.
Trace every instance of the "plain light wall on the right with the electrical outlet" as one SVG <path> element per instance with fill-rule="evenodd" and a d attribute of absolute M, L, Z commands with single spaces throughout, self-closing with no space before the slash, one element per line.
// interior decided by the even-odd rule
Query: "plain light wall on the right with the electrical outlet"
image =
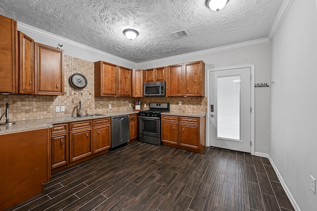
<path fill-rule="evenodd" d="M 316 0 L 294 0 L 271 41 L 269 155 L 302 211 L 317 210 L 316 79 Z"/>

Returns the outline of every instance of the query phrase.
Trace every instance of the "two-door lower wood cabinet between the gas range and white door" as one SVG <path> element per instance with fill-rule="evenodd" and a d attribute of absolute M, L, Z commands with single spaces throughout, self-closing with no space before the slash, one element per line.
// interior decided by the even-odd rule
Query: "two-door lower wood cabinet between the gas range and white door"
<path fill-rule="evenodd" d="M 161 116 L 163 145 L 201 153 L 206 146 L 206 115 L 202 117 Z"/>

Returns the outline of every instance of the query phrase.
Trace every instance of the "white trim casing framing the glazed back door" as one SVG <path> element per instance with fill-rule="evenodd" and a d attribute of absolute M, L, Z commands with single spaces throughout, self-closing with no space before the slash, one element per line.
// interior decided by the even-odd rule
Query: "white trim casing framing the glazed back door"
<path fill-rule="evenodd" d="M 250 67 L 251 68 L 251 107 L 252 107 L 252 112 L 251 112 L 251 155 L 254 155 L 255 153 L 255 96 L 254 96 L 254 64 L 246 64 L 246 65 L 239 65 L 239 66 L 233 66 L 233 67 L 221 67 L 221 68 L 215 68 L 215 69 L 208 69 L 207 70 L 207 118 L 206 118 L 206 146 L 210 146 L 210 109 L 209 105 L 211 105 L 210 102 L 210 74 L 213 71 L 219 71 L 219 70 L 229 70 L 229 69 L 238 69 L 238 68 L 246 68 Z"/>

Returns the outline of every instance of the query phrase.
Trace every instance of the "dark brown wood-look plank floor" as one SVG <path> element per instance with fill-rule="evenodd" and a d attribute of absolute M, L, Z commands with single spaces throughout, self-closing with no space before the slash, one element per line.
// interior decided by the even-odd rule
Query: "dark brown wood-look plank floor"
<path fill-rule="evenodd" d="M 267 158 L 136 142 L 52 176 L 17 211 L 294 211 Z"/>

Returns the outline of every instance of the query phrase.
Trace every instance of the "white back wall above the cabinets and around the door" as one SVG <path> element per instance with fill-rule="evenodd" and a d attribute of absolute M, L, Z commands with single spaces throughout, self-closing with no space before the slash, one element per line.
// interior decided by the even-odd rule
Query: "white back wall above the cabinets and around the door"
<path fill-rule="evenodd" d="M 219 67 L 255 64 L 255 83 L 269 83 L 270 44 L 268 42 L 224 51 L 211 51 L 210 53 L 193 54 L 194 55 L 189 54 L 186 56 L 183 55 L 175 56 L 174 58 L 170 57 L 166 59 L 159 59 L 158 61 L 144 62 L 138 64 L 138 68 L 147 69 L 198 60 L 203 60 L 205 62 L 206 70 Z M 270 88 L 255 88 L 256 153 L 268 154 L 269 89 Z M 207 91 L 205 93 L 207 95 Z"/>

